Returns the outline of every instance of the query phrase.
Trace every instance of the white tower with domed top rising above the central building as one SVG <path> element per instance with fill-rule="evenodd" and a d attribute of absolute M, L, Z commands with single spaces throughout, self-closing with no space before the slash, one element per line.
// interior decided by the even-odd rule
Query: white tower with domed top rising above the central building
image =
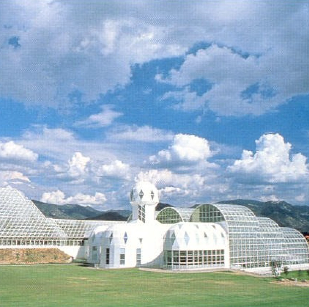
<path fill-rule="evenodd" d="M 131 190 L 132 220 L 149 223 L 155 220 L 155 207 L 159 203 L 159 192 L 154 184 L 140 181 Z"/>

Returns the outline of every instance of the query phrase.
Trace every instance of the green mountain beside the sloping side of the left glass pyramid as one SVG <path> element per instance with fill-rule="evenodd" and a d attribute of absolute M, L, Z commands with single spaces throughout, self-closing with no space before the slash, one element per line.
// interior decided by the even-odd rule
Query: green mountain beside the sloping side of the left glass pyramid
<path fill-rule="evenodd" d="M 53 205 L 32 200 L 47 218 L 86 219 L 94 218 L 102 213 L 91 206 L 81 205 Z"/>

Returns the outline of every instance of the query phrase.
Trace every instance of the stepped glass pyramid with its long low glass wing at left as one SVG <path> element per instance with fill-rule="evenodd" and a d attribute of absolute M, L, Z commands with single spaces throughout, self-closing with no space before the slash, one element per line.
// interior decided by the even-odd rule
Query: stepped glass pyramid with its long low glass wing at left
<path fill-rule="evenodd" d="M 96 227 L 114 223 L 46 218 L 17 190 L 0 188 L 0 247 L 83 245 Z"/>

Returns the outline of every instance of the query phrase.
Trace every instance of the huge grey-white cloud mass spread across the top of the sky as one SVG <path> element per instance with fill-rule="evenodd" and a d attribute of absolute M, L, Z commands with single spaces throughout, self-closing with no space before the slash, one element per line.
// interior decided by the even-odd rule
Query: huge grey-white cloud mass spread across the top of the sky
<path fill-rule="evenodd" d="M 3 97 L 63 107 L 74 104 L 68 96 L 77 90 L 90 102 L 129 84 L 134 64 L 183 55 L 197 42 L 214 45 L 188 54 L 179 70 L 171 70 L 170 81 L 184 86 L 204 78 L 213 87 L 202 97 L 173 92 L 183 96 L 184 110 L 206 105 L 220 115 L 259 115 L 309 92 L 306 1 L 0 5 Z M 8 44 L 11 37 L 18 47 Z M 257 93 L 243 98 L 253 84 L 260 86 Z M 265 99 L 265 86 L 277 95 Z M 87 124 L 105 124 L 99 114 L 93 116 Z"/>

